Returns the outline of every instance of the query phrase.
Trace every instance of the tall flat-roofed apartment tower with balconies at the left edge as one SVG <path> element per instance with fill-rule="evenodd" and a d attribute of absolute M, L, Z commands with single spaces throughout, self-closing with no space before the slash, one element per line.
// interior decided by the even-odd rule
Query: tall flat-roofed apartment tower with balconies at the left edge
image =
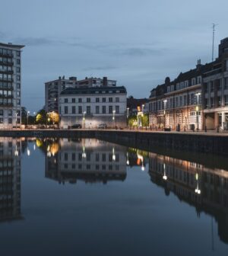
<path fill-rule="evenodd" d="M 21 49 L 0 43 L 0 128 L 21 125 Z"/>

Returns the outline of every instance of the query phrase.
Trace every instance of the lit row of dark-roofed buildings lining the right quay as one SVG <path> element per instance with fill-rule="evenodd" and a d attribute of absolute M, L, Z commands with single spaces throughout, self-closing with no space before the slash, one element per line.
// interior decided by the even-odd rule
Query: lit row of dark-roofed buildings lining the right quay
<path fill-rule="evenodd" d="M 228 37 L 213 62 L 180 73 L 150 93 L 149 123 L 156 129 L 228 129 Z"/>

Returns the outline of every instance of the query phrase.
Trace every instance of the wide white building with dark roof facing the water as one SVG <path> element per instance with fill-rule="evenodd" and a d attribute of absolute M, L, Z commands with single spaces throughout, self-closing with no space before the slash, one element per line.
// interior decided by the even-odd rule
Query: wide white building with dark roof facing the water
<path fill-rule="evenodd" d="M 96 128 L 105 123 L 109 127 L 126 126 L 127 91 L 124 86 L 94 86 L 68 88 L 59 98 L 60 127 L 81 124 Z"/>

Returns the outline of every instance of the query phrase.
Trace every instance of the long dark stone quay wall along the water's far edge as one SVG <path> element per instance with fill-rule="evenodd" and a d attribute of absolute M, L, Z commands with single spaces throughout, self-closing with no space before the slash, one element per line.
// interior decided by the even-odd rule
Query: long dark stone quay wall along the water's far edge
<path fill-rule="evenodd" d="M 223 134 L 128 130 L 0 130 L 0 136 L 97 138 L 152 152 L 159 147 L 165 150 L 228 155 L 228 136 Z"/>

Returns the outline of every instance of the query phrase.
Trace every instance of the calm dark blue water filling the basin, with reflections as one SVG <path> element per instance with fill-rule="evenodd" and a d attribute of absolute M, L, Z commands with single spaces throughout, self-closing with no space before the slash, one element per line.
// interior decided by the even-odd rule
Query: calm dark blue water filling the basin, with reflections
<path fill-rule="evenodd" d="M 0 158 L 2 255 L 228 254 L 228 168 L 97 139 L 0 138 Z"/>

